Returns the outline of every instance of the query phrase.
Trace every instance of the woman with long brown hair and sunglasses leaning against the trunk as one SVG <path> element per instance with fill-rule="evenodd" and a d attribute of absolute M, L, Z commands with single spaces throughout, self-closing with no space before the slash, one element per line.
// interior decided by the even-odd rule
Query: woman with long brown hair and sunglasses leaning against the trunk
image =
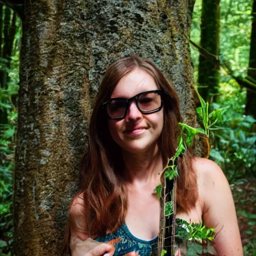
<path fill-rule="evenodd" d="M 154 250 L 159 227 L 154 188 L 175 153 L 180 121 L 178 96 L 151 62 L 132 55 L 106 70 L 81 161 L 81 189 L 70 206 L 66 244 L 72 255 L 149 255 Z M 211 160 L 192 157 L 189 149 L 179 157 L 178 171 L 176 218 L 213 227 L 218 255 L 242 255 L 222 170 Z"/>

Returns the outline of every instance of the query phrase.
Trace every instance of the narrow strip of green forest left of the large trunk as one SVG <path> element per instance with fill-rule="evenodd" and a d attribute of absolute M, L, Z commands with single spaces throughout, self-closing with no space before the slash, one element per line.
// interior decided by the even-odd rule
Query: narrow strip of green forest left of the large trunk
<path fill-rule="evenodd" d="M 0 255 L 9 254 L 13 241 L 12 189 L 21 20 L 0 3 Z"/>

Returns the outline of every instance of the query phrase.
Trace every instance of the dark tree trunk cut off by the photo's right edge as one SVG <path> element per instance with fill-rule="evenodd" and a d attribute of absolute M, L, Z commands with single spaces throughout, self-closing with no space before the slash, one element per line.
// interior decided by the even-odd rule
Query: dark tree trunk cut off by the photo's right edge
<path fill-rule="evenodd" d="M 251 26 L 251 37 L 250 37 L 250 56 L 249 56 L 249 68 L 248 76 L 256 81 L 256 0 L 253 1 L 252 5 L 252 26 Z M 247 89 L 245 113 L 251 114 L 256 118 L 256 93 L 255 91 Z"/>

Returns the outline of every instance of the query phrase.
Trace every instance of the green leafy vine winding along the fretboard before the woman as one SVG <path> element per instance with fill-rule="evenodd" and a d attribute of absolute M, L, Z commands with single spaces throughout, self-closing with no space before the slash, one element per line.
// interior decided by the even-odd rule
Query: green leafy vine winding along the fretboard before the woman
<path fill-rule="evenodd" d="M 167 217 L 167 218 L 172 216 L 172 224 L 177 225 L 178 227 L 181 227 L 181 229 L 179 228 L 179 231 L 175 233 L 176 238 L 179 238 L 179 239 L 182 238 L 183 240 L 186 240 L 186 241 L 196 242 L 197 244 L 200 244 L 202 247 L 204 247 L 205 241 L 212 241 L 214 239 L 214 228 L 206 228 L 205 225 L 203 225 L 202 221 L 200 223 L 187 223 L 185 220 L 177 219 L 176 224 L 174 224 L 176 201 L 175 201 L 175 195 L 173 193 L 175 193 L 175 191 L 167 191 L 166 189 L 166 182 L 173 180 L 173 182 L 175 183 L 175 179 L 178 176 L 177 159 L 178 157 L 184 154 L 184 152 L 187 150 L 189 146 L 193 145 L 194 136 L 200 135 L 201 138 L 203 138 L 206 141 L 206 145 L 207 145 L 206 158 L 208 158 L 209 151 L 210 151 L 210 146 L 209 146 L 210 130 L 221 128 L 215 125 L 218 122 L 219 118 L 221 118 L 222 113 L 223 111 L 225 111 L 226 108 L 219 108 L 209 113 L 208 102 L 205 102 L 204 99 L 200 96 L 197 88 L 195 88 L 195 91 L 201 105 L 196 108 L 196 113 L 198 115 L 199 121 L 202 123 L 203 128 L 194 128 L 185 123 L 181 123 L 181 122 L 178 123 L 178 125 L 180 126 L 180 134 L 177 137 L 176 152 L 171 158 L 168 159 L 166 166 L 160 173 L 161 176 L 164 177 L 163 178 L 164 180 L 161 182 L 163 185 L 160 184 L 155 188 L 155 192 L 157 193 L 160 199 L 160 204 L 162 207 L 161 211 L 164 212 L 160 214 L 161 215 L 160 216 L 160 233 L 159 233 L 160 238 L 158 240 L 158 246 L 160 246 L 158 250 L 158 252 L 160 253 L 158 254 L 160 254 L 161 256 L 167 253 L 167 250 L 163 245 L 163 241 L 166 238 L 164 237 L 164 232 L 161 231 L 163 228 L 165 228 L 165 221 L 163 221 L 163 215 L 164 217 Z M 173 186 L 174 186 L 174 183 L 173 183 Z M 166 199 L 168 194 L 171 194 L 171 196 L 168 196 L 168 199 Z M 175 232 L 175 229 L 173 230 Z M 174 245 L 173 241 L 172 241 L 172 245 Z M 173 249 L 171 253 L 173 253 Z"/>

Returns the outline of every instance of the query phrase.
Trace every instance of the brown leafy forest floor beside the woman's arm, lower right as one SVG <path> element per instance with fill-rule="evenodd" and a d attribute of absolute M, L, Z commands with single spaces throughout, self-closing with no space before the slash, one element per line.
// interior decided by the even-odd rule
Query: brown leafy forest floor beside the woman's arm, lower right
<path fill-rule="evenodd" d="M 256 255 L 256 178 L 231 185 L 244 256 Z"/>

